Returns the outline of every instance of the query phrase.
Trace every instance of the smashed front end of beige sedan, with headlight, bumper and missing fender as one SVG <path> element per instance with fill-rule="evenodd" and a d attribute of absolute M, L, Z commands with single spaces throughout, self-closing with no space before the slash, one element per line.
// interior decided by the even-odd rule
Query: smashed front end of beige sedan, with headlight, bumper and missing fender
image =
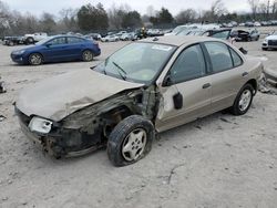
<path fill-rule="evenodd" d="M 44 152 L 60 157 L 81 156 L 106 145 L 113 128 L 130 115 L 154 121 L 158 95 L 155 86 L 127 90 L 81 108 L 60 122 L 27 116 L 16 107 L 23 133 Z"/>

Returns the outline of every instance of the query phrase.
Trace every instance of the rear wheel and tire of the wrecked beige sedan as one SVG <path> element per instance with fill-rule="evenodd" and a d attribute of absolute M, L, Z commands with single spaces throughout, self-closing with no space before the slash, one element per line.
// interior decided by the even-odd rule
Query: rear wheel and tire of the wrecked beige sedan
<path fill-rule="evenodd" d="M 233 115 L 244 115 L 249 110 L 254 97 L 254 91 L 250 84 L 246 84 L 240 89 L 234 105 L 230 107 L 230 113 Z"/>

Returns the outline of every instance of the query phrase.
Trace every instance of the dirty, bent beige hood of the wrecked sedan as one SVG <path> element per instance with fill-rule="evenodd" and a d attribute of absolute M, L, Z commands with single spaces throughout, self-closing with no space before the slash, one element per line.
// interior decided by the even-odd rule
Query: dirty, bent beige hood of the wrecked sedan
<path fill-rule="evenodd" d="M 119 80 L 93 70 L 79 70 L 24 89 L 16 106 L 27 116 L 38 115 L 59 122 L 78 110 L 140 86 L 143 84 Z"/>

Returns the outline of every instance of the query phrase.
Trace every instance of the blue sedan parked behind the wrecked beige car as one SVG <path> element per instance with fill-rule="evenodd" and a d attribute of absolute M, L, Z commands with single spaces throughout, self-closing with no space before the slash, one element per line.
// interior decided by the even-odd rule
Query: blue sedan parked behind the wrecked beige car
<path fill-rule="evenodd" d="M 11 59 L 20 64 L 40 65 L 47 62 L 92 61 L 101 54 L 99 44 L 73 35 L 55 35 L 38 42 L 34 46 L 13 51 Z"/>

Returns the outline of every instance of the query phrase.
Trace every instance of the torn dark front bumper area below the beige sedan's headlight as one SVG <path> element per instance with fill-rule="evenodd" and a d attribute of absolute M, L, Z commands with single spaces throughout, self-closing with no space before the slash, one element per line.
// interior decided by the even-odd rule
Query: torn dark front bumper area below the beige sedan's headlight
<path fill-rule="evenodd" d="M 80 129 L 69 129 L 54 125 L 49 134 L 43 135 L 30 131 L 28 125 L 31 117 L 24 115 L 17 107 L 16 113 L 23 134 L 35 146 L 55 158 L 81 156 L 104 146 L 101 131 L 95 131 L 93 135 L 89 135 Z"/>

